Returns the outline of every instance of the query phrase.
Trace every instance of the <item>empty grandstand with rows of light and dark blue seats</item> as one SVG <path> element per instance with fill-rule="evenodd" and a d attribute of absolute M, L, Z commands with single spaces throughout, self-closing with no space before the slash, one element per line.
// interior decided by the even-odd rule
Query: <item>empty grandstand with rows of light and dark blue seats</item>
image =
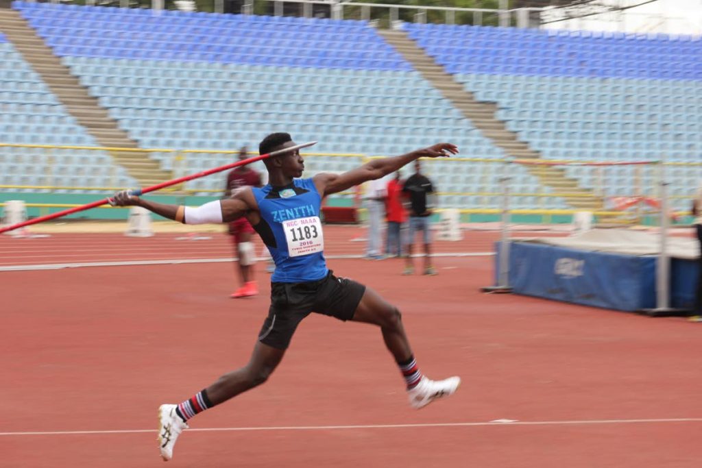
<path fill-rule="evenodd" d="M 519 154 L 491 122 L 516 135 L 529 157 L 678 164 L 669 173 L 684 178 L 674 192 L 680 209 L 687 203 L 683 191 L 702 175 L 693 165 L 702 146 L 702 48 L 691 36 L 402 23 L 398 30 L 424 57 L 413 61 L 366 20 L 12 6 L 107 109 L 115 131 L 140 148 L 163 151 L 130 160 L 109 151 L 4 148 L 6 190 L 139 185 L 146 176 L 128 164 L 156 164 L 161 177 L 200 171 L 229 161 L 225 149 L 255 148 L 266 133 L 289 131 L 300 141 L 319 140 L 320 154 L 356 155 L 315 156 L 310 172 L 344 171 L 365 156 L 454 142 L 462 156 L 480 161 L 428 167 L 444 207 L 497 208 L 503 175 L 519 194 L 515 208 L 577 208 L 590 197 L 597 209 L 607 196 L 655 194 L 651 168 L 612 168 L 602 178 L 592 168 L 539 173 L 507 166 Z M 0 46 L 0 100 L 7 110 L 1 142 L 100 146 L 32 64 L 6 41 Z M 438 86 L 434 73 L 423 70 L 430 62 L 444 80 L 460 83 L 465 97 Z M 466 101 L 489 110 L 472 115 Z M 494 114 L 487 119 L 485 112 Z M 37 161 L 47 167 L 37 168 Z M 213 194 L 221 186 L 213 177 L 181 188 Z"/>

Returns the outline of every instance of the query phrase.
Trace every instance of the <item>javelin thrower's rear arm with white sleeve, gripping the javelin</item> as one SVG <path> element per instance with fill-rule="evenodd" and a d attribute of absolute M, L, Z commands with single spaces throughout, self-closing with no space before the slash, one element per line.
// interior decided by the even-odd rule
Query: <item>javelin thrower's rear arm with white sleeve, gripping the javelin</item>
<path fill-rule="evenodd" d="M 239 190 L 230 199 L 210 201 L 198 207 L 190 207 L 144 200 L 124 190 L 114 195 L 111 204 L 112 206 L 141 206 L 169 220 L 187 225 L 201 225 L 210 222 L 230 222 L 245 215 L 249 211 L 249 204 L 243 192 Z"/>

